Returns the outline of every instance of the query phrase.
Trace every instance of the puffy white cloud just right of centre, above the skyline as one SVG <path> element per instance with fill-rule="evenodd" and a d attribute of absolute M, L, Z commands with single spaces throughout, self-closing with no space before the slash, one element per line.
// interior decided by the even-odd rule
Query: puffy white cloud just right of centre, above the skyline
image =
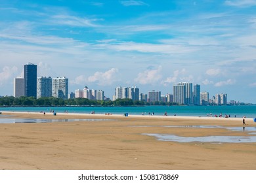
<path fill-rule="evenodd" d="M 146 70 L 142 73 L 139 73 L 135 82 L 139 84 L 154 84 L 161 79 L 161 66 L 157 69 Z"/>

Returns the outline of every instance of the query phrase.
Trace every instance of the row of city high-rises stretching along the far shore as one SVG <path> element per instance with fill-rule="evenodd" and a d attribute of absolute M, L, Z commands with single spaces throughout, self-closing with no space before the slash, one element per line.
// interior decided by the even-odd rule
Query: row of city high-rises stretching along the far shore
<path fill-rule="evenodd" d="M 24 78 L 18 76 L 14 78 L 14 97 L 26 96 L 25 93 L 36 92 L 36 97 L 57 97 L 62 99 L 68 99 L 69 97 L 82 97 L 91 100 L 105 100 L 110 99 L 108 96 L 104 95 L 103 90 L 90 89 L 87 86 L 83 90 L 77 89 L 74 91 L 68 91 L 68 78 L 65 76 L 51 78 L 51 76 L 40 76 L 37 77 L 37 65 L 33 63 L 26 63 L 24 65 Z M 25 79 L 25 77 L 30 77 L 30 79 Z M 37 82 L 34 85 L 32 78 L 36 78 Z M 25 82 L 25 80 L 28 80 Z M 28 89 L 24 90 L 26 86 Z M 201 86 L 199 84 L 192 84 L 191 82 L 179 82 L 178 84 L 173 84 L 173 93 L 167 93 L 161 95 L 161 91 L 148 91 L 148 93 L 140 93 L 137 86 L 127 87 L 127 86 L 117 86 L 115 88 L 115 93 L 113 95 L 113 101 L 116 99 L 132 99 L 133 101 L 148 101 L 148 102 L 171 102 L 178 103 L 181 105 L 207 105 L 209 103 L 215 103 L 217 105 L 228 104 L 226 93 L 217 93 L 209 99 L 209 92 L 205 96 L 205 92 L 201 91 Z M 22 94 L 23 93 L 23 94 Z M 144 95 L 144 99 L 142 99 Z M 172 96 L 171 96 L 172 95 Z M 28 95 L 33 96 L 33 95 Z M 148 97 L 147 97 L 148 96 Z M 202 99 L 200 99 L 202 96 Z M 35 96 L 33 96 L 35 97 Z M 230 100 L 230 103 L 236 103 L 239 101 Z"/>

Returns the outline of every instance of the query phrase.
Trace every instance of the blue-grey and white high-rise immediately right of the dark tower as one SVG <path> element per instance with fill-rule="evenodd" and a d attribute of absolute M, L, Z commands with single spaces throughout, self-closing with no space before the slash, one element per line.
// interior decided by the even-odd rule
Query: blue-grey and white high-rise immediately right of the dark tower
<path fill-rule="evenodd" d="M 40 97 L 52 96 L 52 78 L 38 77 L 37 78 L 37 99 Z"/>

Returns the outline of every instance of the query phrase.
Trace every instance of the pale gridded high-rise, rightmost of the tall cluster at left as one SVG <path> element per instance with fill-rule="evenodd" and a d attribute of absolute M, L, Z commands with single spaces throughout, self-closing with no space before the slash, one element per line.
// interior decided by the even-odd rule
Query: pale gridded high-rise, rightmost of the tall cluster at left
<path fill-rule="evenodd" d="M 53 97 L 68 99 L 68 78 L 53 78 Z"/>

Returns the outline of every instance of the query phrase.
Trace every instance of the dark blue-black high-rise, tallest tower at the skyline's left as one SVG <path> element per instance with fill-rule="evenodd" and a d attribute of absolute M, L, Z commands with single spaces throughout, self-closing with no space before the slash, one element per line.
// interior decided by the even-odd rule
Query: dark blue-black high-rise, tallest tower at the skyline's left
<path fill-rule="evenodd" d="M 24 65 L 24 95 L 37 97 L 37 65 L 33 63 Z"/>

